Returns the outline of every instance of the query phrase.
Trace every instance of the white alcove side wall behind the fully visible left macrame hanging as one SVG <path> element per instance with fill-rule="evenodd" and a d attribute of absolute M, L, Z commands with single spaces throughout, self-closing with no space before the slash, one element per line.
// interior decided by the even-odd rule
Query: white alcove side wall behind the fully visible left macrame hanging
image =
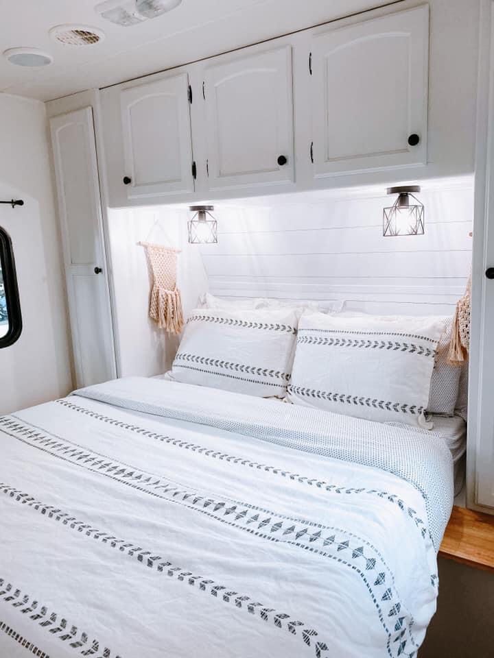
<path fill-rule="evenodd" d="M 199 247 L 187 243 L 185 209 L 170 207 L 110 210 L 108 234 L 115 291 L 115 339 L 121 377 L 154 376 L 169 369 L 178 337 L 158 329 L 148 317 L 150 279 L 140 241 L 183 249 L 178 256 L 178 287 L 184 311 L 207 291 Z"/>

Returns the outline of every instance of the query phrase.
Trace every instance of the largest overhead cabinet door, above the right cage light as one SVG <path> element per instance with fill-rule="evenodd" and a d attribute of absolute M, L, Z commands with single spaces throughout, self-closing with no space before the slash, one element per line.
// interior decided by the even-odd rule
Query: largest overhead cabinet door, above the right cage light
<path fill-rule="evenodd" d="M 316 178 L 426 163 L 428 48 L 427 5 L 314 38 Z"/>

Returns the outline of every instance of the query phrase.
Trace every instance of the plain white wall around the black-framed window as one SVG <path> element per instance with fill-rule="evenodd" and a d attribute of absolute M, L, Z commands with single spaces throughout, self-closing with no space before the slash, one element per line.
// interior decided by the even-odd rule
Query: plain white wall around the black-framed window
<path fill-rule="evenodd" d="M 0 226 L 12 238 L 23 332 L 0 350 L 0 414 L 60 397 L 72 386 L 60 236 L 45 106 L 0 94 Z"/>

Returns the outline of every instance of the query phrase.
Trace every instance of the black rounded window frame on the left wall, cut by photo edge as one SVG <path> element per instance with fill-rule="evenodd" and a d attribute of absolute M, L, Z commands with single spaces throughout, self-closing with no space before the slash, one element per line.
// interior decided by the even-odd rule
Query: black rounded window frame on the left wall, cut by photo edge
<path fill-rule="evenodd" d="M 0 337 L 0 350 L 10 348 L 21 337 L 23 324 L 21 313 L 21 301 L 19 299 L 19 286 L 17 284 L 17 273 L 12 249 L 12 240 L 4 228 L 0 226 L 0 264 L 7 302 L 8 332 Z"/>

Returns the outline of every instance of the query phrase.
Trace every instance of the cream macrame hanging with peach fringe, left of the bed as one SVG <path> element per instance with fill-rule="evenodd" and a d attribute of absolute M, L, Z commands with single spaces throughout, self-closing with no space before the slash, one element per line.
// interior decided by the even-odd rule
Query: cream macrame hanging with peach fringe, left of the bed
<path fill-rule="evenodd" d="M 140 242 L 144 247 L 152 276 L 149 315 L 160 329 L 171 334 L 183 330 L 183 308 L 180 291 L 176 285 L 177 256 L 179 249 Z"/>

